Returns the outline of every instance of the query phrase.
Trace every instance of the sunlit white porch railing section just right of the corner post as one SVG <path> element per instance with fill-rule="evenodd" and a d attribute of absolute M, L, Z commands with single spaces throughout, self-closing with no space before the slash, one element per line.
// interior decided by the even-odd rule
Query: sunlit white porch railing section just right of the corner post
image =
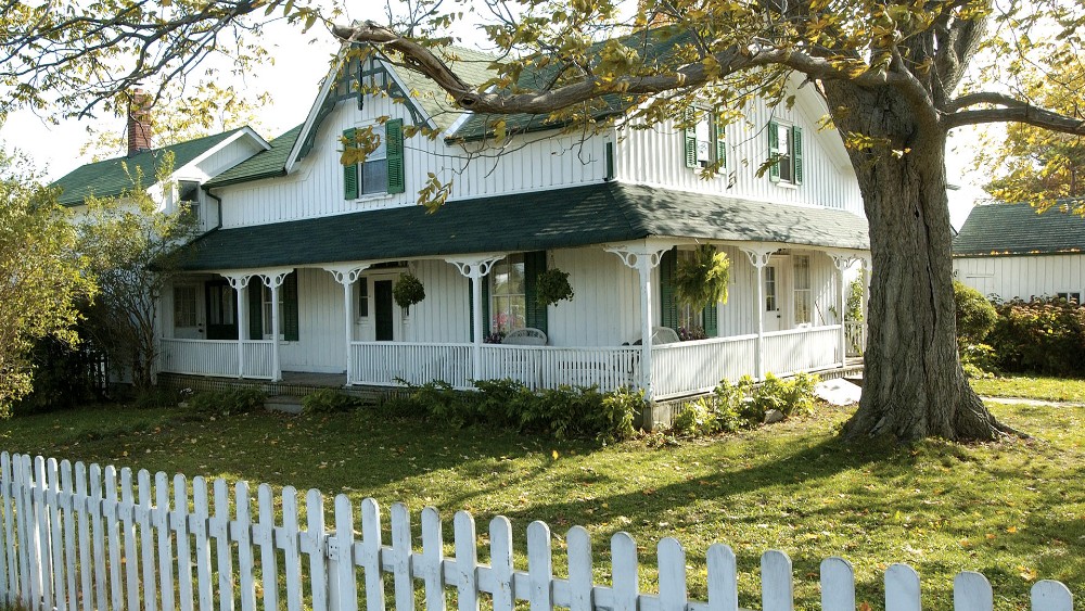
<path fill-rule="evenodd" d="M 753 375 L 757 335 L 714 338 L 652 347 L 656 399 L 709 392 L 723 379 Z"/>

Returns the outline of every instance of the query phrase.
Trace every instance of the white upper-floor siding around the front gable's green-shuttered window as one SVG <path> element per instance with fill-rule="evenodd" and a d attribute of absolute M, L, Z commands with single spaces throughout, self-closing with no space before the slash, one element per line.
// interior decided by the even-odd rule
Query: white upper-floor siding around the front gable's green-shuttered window
<path fill-rule="evenodd" d="M 398 194 L 343 198 L 340 137 L 348 128 L 369 125 L 375 117 L 410 117 L 404 107 L 384 98 L 366 99 L 359 111 L 350 101 L 341 102 L 317 132 L 316 144 L 290 176 L 220 188 L 225 228 L 282 222 L 303 218 L 348 214 L 416 205 L 426 174 L 451 182 L 451 200 L 540 191 L 598 182 L 605 177 L 605 143 L 601 138 L 575 135 L 515 137 L 506 151 L 478 153 L 481 143 L 447 145 L 444 140 L 421 136 L 404 140 L 406 189 Z"/>

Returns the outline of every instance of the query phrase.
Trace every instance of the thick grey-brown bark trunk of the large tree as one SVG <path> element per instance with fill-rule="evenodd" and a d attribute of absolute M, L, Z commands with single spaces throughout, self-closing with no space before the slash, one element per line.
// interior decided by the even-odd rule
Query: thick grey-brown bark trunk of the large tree
<path fill-rule="evenodd" d="M 946 132 L 920 126 L 896 91 L 835 82 L 826 92 L 843 133 L 884 138 L 850 149 L 873 269 L 863 397 L 844 434 L 994 440 L 1006 429 L 968 384 L 957 355 Z"/>

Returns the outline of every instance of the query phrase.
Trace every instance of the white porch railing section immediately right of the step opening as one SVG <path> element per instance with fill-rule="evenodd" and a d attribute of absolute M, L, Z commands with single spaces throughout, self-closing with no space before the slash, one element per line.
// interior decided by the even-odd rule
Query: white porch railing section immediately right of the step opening
<path fill-rule="evenodd" d="M 471 387 L 471 344 L 352 342 L 350 382 L 398 385 L 442 380 L 457 389 Z"/>

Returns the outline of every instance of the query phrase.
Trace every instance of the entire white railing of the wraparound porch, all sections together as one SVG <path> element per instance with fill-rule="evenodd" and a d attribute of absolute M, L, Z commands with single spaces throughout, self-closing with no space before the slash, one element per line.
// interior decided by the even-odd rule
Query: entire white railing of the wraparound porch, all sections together
<path fill-rule="evenodd" d="M 711 392 L 720 380 L 763 379 L 848 366 L 840 326 L 713 338 L 651 347 L 644 375 L 643 346 L 514 346 L 472 343 L 352 342 L 344 373 L 283 371 L 282 386 L 399 386 L 444 381 L 456 389 L 472 380 L 511 379 L 531 389 L 598 386 L 602 392 L 646 389 L 654 400 Z M 271 341 L 245 341 L 245 371 L 238 375 L 238 342 L 164 339 L 162 370 L 186 375 L 273 381 Z M 473 362 L 477 352 L 480 370 Z M 758 359 L 761 355 L 761 359 Z M 760 367 L 758 367 L 760 366 Z M 758 371 L 760 370 L 760 371 Z"/>

